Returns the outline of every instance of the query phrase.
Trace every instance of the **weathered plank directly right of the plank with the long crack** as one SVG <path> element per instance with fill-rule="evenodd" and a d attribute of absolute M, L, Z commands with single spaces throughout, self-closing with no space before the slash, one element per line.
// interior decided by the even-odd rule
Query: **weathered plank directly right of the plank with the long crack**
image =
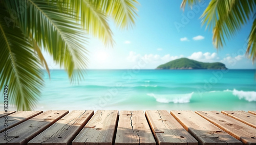
<path fill-rule="evenodd" d="M 198 144 L 197 140 L 167 111 L 145 111 L 145 114 L 159 145 Z"/>

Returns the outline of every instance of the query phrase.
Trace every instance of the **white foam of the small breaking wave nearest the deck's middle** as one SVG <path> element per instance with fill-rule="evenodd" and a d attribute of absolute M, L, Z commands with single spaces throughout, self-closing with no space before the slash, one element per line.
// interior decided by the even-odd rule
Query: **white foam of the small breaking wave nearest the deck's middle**
<path fill-rule="evenodd" d="M 148 93 L 147 95 L 153 96 L 157 102 L 160 103 L 189 103 L 194 92 L 185 94 L 154 94 Z"/>

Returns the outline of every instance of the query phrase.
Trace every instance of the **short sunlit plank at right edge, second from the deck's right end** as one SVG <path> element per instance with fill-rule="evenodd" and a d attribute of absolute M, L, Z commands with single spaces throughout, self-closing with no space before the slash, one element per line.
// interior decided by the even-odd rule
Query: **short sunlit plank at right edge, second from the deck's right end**
<path fill-rule="evenodd" d="M 248 126 L 256 128 L 256 116 L 251 113 L 245 111 L 221 111 L 221 113 L 237 119 Z"/>

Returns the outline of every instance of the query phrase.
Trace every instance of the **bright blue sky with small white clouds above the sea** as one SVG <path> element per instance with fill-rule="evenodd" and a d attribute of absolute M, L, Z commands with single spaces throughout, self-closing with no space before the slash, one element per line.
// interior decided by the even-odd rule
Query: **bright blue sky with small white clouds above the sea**
<path fill-rule="evenodd" d="M 120 30 L 110 19 L 115 45 L 105 47 L 89 36 L 89 69 L 154 69 L 168 61 L 187 57 L 203 62 L 223 62 L 230 69 L 255 68 L 245 56 L 246 38 L 252 22 L 237 33 L 222 49 L 212 45 L 212 31 L 199 18 L 209 1 L 192 10 L 180 8 L 179 1 L 138 1 L 138 17 L 133 29 Z M 50 68 L 59 68 L 46 56 Z"/>

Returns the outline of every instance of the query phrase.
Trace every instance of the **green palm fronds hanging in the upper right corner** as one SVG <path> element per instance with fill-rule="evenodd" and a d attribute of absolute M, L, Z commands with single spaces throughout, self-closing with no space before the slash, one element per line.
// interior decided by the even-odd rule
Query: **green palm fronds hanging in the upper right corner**
<path fill-rule="evenodd" d="M 186 3 L 192 6 L 199 2 L 196 0 L 183 0 L 181 7 L 185 8 Z M 225 39 L 230 39 L 245 25 L 256 13 L 256 1 L 253 0 L 211 0 L 201 18 L 203 25 L 213 30 L 212 43 L 219 49 L 225 44 Z M 255 22 L 255 18 L 254 18 Z M 247 54 L 255 60 L 255 25 L 248 37 Z"/>

